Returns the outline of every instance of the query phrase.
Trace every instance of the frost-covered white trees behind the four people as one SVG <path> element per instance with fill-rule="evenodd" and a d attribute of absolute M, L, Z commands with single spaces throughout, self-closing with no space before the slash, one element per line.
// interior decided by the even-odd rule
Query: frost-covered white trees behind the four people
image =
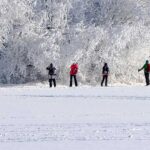
<path fill-rule="evenodd" d="M 0 83 L 59 82 L 78 62 L 80 81 L 96 84 L 103 62 L 112 83 L 137 83 L 150 55 L 149 0 L 0 0 Z"/>

